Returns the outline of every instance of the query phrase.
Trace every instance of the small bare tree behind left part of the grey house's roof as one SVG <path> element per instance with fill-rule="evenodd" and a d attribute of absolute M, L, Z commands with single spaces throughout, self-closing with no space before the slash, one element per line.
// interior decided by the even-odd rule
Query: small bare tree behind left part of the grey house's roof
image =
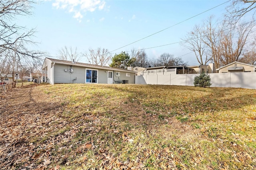
<path fill-rule="evenodd" d="M 66 61 L 79 61 L 81 59 L 81 54 L 77 52 L 77 48 L 73 49 L 72 47 L 63 47 L 59 50 L 58 58 Z"/>

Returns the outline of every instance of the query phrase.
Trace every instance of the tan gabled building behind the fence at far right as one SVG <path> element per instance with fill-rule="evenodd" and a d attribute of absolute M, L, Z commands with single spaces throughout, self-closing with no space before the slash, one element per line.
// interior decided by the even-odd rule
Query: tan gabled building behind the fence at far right
<path fill-rule="evenodd" d="M 225 72 L 255 72 L 256 66 L 246 63 L 240 63 L 235 61 L 233 63 L 227 64 L 220 68 L 217 68 L 216 71 L 219 73 Z"/>

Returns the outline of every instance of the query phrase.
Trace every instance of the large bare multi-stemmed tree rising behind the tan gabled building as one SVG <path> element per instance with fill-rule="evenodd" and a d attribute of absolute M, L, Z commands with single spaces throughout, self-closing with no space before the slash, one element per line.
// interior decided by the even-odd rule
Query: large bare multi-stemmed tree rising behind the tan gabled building
<path fill-rule="evenodd" d="M 207 45 L 207 54 L 212 57 L 216 68 L 238 61 L 252 33 L 252 22 L 233 25 L 222 21 L 218 27 L 212 24 L 212 17 L 204 22 L 203 42 Z"/>

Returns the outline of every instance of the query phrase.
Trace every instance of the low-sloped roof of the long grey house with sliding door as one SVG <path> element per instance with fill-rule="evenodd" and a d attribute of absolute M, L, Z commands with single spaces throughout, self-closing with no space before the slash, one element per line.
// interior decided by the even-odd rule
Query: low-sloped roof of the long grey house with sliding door
<path fill-rule="evenodd" d="M 105 70 L 125 71 L 125 72 L 136 73 L 136 71 L 126 70 L 126 69 L 122 69 L 122 68 L 113 68 L 113 67 L 109 67 L 109 66 L 99 66 L 99 65 L 95 65 L 95 64 L 87 64 L 87 63 L 79 63 L 79 62 L 73 63 L 72 61 L 51 59 L 48 57 L 46 57 L 45 60 L 46 59 L 48 59 L 56 64 L 65 64 L 65 65 L 72 65 L 72 66 L 82 66 L 82 67 L 89 67 L 89 68 L 98 68 L 98 69 L 105 69 Z M 44 67 L 44 64 L 42 67 Z"/>

